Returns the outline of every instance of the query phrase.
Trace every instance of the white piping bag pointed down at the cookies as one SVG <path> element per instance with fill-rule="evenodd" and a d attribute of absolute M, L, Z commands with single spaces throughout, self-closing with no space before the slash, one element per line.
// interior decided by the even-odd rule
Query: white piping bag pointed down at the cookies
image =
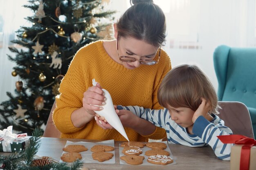
<path fill-rule="evenodd" d="M 97 82 L 95 81 L 95 79 L 92 79 L 92 85 L 96 86 Z M 126 132 L 124 130 L 124 126 L 122 125 L 116 111 L 115 108 L 113 106 L 113 102 L 112 102 L 112 98 L 111 95 L 108 93 L 108 91 L 106 89 L 102 89 L 105 93 L 105 97 L 107 98 L 107 100 L 105 101 L 106 104 L 103 107 L 102 110 L 100 111 L 95 111 L 95 113 L 97 113 L 98 115 L 105 117 L 105 119 L 108 121 L 108 123 L 115 128 L 121 135 L 123 135 L 125 137 L 125 139 L 128 139 Z"/>

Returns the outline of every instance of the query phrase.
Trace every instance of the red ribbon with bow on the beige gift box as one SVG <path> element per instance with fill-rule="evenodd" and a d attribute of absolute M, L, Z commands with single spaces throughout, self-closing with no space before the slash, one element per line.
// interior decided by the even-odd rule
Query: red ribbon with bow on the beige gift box
<path fill-rule="evenodd" d="M 250 152 L 252 146 L 256 145 L 256 140 L 243 135 L 222 135 L 217 137 L 223 144 L 243 145 L 240 155 L 240 170 L 249 170 Z"/>

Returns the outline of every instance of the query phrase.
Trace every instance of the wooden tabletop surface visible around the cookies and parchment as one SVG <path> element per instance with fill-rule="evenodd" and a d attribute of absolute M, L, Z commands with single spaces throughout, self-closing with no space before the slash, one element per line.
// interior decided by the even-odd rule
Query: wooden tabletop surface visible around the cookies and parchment
<path fill-rule="evenodd" d="M 78 142 L 99 142 L 96 140 L 85 139 L 59 139 L 42 137 L 41 146 L 36 153 L 39 157 L 48 156 L 60 160 L 62 148 L 64 148 L 66 141 Z M 173 159 L 176 163 L 172 166 L 132 166 L 121 165 L 119 163 L 119 144 L 122 142 L 115 141 L 115 164 L 104 163 L 85 163 L 84 165 L 90 170 L 229 170 L 230 162 L 218 159 L 211 147 L 191 148 L 188 146 L 168 144 Z M 2 154 L 2 152 L 0 152 Z M 5 153 L 6 154 L 6 153 Z M 5 155 L 4 154 L 4 155 Z"/>

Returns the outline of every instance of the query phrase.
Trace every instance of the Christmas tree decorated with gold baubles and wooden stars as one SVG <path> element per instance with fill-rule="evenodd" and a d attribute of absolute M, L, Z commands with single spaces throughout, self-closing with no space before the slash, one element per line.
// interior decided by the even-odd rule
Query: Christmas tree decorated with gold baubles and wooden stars
<path fill-rule="evenodd" d="M 19 76 L 15 94 L 0 104 L 0 129 L 12 125 L 18 132 L 31 132 L 46 124 L 58 95 L 61 79 L 76 51 L 99 39 L 112 39 L 110 0 L 29 0 L 24 5 L 34 11 L 26 18 L 31 27 L 22 26 L 9 48 L 16 62 L 11 73 Z"/>

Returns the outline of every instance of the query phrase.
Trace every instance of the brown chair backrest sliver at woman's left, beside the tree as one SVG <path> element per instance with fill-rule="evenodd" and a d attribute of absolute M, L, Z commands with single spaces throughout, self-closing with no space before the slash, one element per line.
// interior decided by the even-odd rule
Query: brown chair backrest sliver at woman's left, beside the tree
<path fill-rule="evenodd" d="M 56 101 L 54 101 L 54 104 L 52 105 L 52 110 L 48 117 L 43 137 L 57 137 L 57 138 L 61 137 L 61 132 L 58 131 L 58 129 L 54 126 L 54 123 L 52 120 L 52 113 L 55 108 L 56 108 Z"/>

